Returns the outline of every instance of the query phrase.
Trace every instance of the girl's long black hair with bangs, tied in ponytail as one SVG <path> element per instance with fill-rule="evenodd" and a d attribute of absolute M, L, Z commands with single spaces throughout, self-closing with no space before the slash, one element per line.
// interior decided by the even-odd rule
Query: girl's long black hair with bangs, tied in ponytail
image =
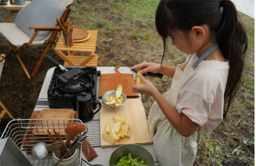
<path fill-rule="evenodd" d="M 244 56 L 248 48 L 247 34 L 238 19 L 234 4 L 224 1 L 160 1 L 156 11 L 155 24 L 167 50 L 168 32 L 179 29 L 189 32 L 196 25 L 206 24 L 216 37 L 224 58 L 229 61 L 229 74 L 224 94 L 223 118 L 240 87 L 244 68 Z M 161 63 L 163 62 L 163 58 Z"/>

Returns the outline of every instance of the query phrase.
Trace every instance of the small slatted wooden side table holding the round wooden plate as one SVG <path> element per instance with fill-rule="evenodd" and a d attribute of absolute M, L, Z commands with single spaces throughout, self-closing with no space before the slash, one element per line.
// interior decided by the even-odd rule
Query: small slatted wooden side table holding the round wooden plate
<path fill-rule="evenodd" d="M 97 66 L 98 64 L 98 55 L 95 54 L 96 43 L 97 43 L 97 34 L 98 30 L 87 30 L 90 33 L 90 38 L 84 42 L 74 42 L 71 47 L 65 45 L 65 39 L 61 34 L 60 39 L 55 47 L 55 51 L 58 56 L 60 56 L 64 62 L 64 66 Z M 63 53 L 67 52 L 67 55 Z M 87 52 L 89 56 L 78 56 L 77 52 Z"/>

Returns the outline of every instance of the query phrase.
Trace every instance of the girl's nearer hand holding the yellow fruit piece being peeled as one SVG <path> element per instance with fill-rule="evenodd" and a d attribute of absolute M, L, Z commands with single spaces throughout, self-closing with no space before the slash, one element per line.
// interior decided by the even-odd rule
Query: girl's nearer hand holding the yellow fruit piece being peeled
<path fill-rule="evenodd" d="M 140 94 L 147 94 L 151 95 L 154 94 L 155 91 L 157 91 L 156 87 L 150 82 L 149 80 L 146 80 L 142 75 L 139 76 L 140 80 L 142 81 L 141 85 L 136 85 L 136 80 L 134 80 L 134 83 L 132 84 L 132 92 L 137 92 Z"/>

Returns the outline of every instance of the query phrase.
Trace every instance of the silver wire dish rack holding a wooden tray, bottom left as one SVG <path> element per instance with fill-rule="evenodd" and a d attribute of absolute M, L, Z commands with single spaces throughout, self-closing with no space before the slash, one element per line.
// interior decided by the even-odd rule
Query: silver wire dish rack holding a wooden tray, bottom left
<path fill-rule="evenodd" d="M 67 134 L 65 128 L 73 124 L 82 124 L 78 119 L 17 119 L 8 123 L 1 136 L 11 138 L 21 152 L 26 155 L 32 165 L 53 165 L 52 152 L 40 160 L 34 159 L 31 151 L 32 147 L 38 142 L 51 144 L 51 139 L 47 136 L 47 130 L 57 139 L 53 129 L 60 133 L 61 138 L 66 140 Z M 86 132 L 86 131 L 85 131 Z M 80 136 L 84 132 L 80 133 Z M 80 165 L 81 165 L 81 148 L 79 148 Z"/>

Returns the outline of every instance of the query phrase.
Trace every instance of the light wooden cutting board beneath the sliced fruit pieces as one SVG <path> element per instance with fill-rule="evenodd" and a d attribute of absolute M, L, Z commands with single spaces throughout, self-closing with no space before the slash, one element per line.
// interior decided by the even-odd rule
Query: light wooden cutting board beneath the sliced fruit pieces
<path fill-rule="evenodd" d="M 102 101 L 101 101 L 102 102 Z M 140 98 L 128 98 L 120 111 L 114 112 L 102 104 L 100 110 L 100 132 L 104 132 L 107 121 L 110 121 L 110 128 L 115 124 L 113 116 L 119 116 L 131 125 L 131 137 L 120 138 L 114 145 L 106 142 L 101 136 L 101 147 L 116 147 L 127 143 L 151 144 L 152 139 L 147 126 L 144 107 Z"/>

